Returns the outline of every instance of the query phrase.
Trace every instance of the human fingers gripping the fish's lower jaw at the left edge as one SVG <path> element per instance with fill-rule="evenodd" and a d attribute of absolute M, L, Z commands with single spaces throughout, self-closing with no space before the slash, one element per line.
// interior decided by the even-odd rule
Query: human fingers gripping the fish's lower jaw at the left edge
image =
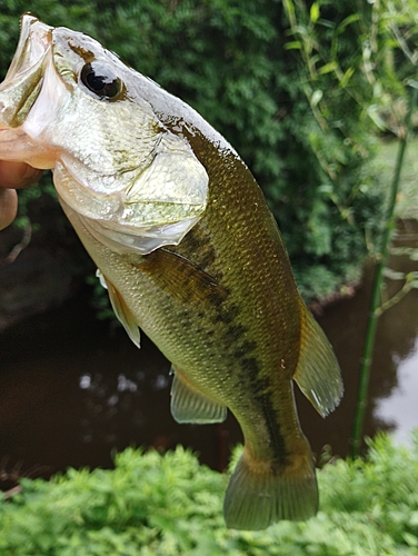
<path fill-rule="evenodd" d="M 16 189 L 30 186 L 39 180 L 42 170 L 24 162 L 0 160 L 0 230 L 9 226 L 18 211 Z"/>

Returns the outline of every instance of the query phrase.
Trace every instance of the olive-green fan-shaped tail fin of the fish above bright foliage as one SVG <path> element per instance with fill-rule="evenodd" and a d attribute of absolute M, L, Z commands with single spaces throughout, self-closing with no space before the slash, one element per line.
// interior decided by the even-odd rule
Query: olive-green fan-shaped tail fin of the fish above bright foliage
<path fill-rule="evenodd" d="M 287 465 L 260 461 L 245 451 L 223 504 L 227 527 L 265 529 L 280 519 L 303 522 L 318 512 L 318 486 L 308 444 Z"/>

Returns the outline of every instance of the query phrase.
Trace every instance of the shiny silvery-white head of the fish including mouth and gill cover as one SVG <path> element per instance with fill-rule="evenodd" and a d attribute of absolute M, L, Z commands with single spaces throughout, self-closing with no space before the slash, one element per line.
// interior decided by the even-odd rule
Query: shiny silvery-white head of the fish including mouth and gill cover
<path fill-rule="evenodd" d="M 208 176 L 139 78 L 90 37 L 24 14 L 0 86 L 0 158 L 52 169 L 60 201 L 96 239 L 146 255 L 199 220 Z"/>

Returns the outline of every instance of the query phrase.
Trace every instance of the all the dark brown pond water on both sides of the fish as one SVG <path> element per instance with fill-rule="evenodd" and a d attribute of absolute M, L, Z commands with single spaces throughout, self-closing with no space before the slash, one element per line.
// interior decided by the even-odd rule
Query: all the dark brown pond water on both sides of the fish
<path fill-rule="evenodd" d="M 395 246 L 418 247 L 417 224 L 401 226 Z M 401 250 L 401 249 L 400 249 Z M 401 250 L 402 251 L 402 250 Z M 404 251 L 406 251 L 404 249 Z M 418 271 L 408 255 L 392 255 L 397 271 Z M 297 393 L 302 429 L 319 455 L 329 445 L 345 456 L 358 387 L 372 268 L 351 298 L 326 307 L 318 320 L 340 361 L 345 396 L 326 419 Z M 401 287 L 387 280 L 386 295 Z M 138 350 L 125 331 L 98 321 L 81 291 L 59 309 L 20 321 L 0 335 L 0 486 L 21 475 L 74 467 L 110 467 L 127 446 L 191 447 L 201 461 L 223 469 L 241 441 L 233 417 L 210 426 L 178 425 L 170 415 L 169 363 L 142 335 Z M 407 441 L 418 426 L 418 290 L 379 320 L 365 434 L 391 430 Z"/>

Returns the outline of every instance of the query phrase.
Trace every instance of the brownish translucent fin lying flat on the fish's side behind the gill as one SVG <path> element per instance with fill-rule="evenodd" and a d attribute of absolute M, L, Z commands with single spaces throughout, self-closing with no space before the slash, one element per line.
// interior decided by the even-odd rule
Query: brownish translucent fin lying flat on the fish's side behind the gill
<path fill-rule="evenodd" d="M 212 276 L 169 249 L 157 249 L 143 259 L 137 268 L 179 301 L 219 305 L 228 295 Z"/>

